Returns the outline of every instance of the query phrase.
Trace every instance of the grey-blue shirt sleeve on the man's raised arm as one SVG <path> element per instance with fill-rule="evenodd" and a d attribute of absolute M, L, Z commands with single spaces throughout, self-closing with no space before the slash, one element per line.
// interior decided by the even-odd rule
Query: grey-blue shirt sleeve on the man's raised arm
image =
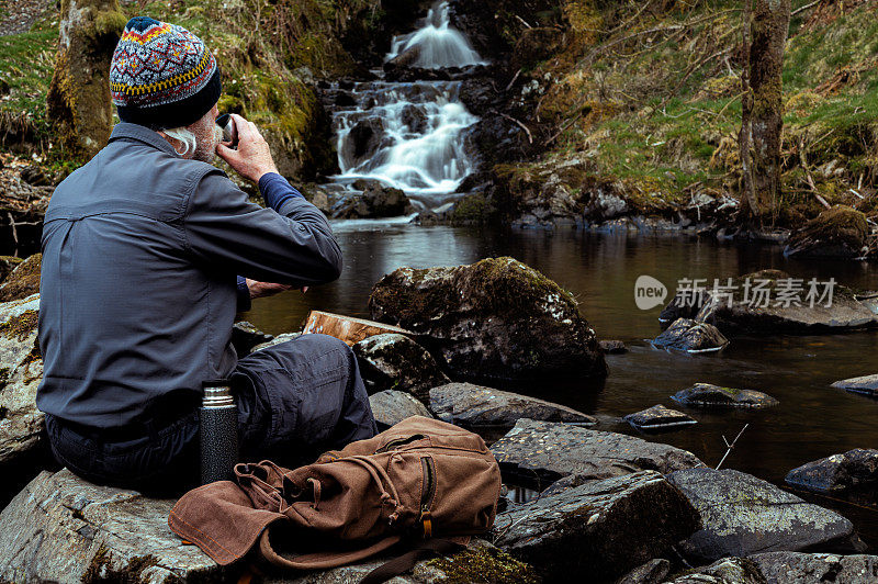
<path fill-rule="evenodd" d="M 336 280 L 341 249 L 324 214 L 301 195 L 274 202 L 277 211 L 261 207 L 219 169 L 206 172 L 185 203 L 185 248 L 212 269 L 263 282 Z"/>

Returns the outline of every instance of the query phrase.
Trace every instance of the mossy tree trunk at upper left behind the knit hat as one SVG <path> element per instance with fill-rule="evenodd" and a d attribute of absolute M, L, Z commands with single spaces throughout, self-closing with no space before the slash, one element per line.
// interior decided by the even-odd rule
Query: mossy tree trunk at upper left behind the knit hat
<path fill-rule="evenodd" d="M 125 22 L 119 0 L 61 0 L 46 104 L 70 156 L 91 158 L 110 137 L 110 59 Z"/>

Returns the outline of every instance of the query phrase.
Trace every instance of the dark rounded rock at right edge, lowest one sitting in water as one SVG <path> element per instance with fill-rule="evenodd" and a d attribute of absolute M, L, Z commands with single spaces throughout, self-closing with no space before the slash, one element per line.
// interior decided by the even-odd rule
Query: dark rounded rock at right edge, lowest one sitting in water
<path fill-rule="evenodd" d="M 787 484 L 818 493 L 878 487 L 878 450 L 855 448 L 792 469 Z"/>

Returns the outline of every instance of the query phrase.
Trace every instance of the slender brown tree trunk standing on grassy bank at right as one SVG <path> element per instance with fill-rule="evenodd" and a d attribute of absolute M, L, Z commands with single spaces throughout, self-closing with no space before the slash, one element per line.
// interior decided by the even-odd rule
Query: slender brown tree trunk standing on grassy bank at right
<path fill-rule="evenodd" d="M 790 0 L 755 0 L 750 48 L 753 182 L 761 214 L 777 215 L 780 195 L 780 131 L 784 49 Z"/>

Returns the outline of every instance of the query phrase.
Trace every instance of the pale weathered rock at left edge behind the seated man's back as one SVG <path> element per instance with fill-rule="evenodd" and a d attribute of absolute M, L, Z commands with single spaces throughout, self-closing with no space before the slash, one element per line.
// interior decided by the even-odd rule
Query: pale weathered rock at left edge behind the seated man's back
<path fill-rule="evenodd" d="M 0 462 L 37 447 L 45 427 L 36 408 L 43 379 L 37 323 L 40 294 L 0 304 Z"/>

